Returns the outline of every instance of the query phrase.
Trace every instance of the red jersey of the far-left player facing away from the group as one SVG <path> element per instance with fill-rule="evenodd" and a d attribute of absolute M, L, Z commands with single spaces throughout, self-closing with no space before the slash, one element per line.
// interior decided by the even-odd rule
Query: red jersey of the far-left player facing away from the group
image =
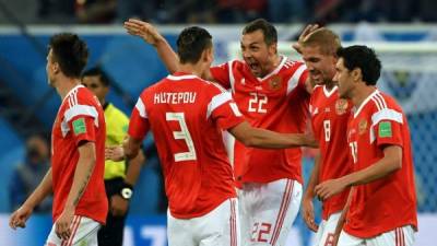
<path fill-rule="evenodd" d="M 103 179 L 105 136 L 105 116 L 98 99 L 83 85 L 75 86 L 63 98 L 51 131 L 54 221 L 62 213 L 73 184 L 78 147 L 91 141 L 95 144 L 96 163 L 74 214 L 105 224 L 108 212 Z"/>

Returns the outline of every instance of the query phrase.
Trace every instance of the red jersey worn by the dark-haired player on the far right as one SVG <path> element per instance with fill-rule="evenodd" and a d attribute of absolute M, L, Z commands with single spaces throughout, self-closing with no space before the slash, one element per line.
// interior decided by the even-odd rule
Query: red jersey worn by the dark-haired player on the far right
<path fill-rule="evenodd" d="M 344 230 L 353 236 L 367 238 L 404 225 L 416 229 L 411 139 L 402 108 L 392 97 L 375 90 L 351 117 L 347 142 L 354 172 L 381 160 L 387 145 L 402 148 L 402 168 L 354 187 Z"/>

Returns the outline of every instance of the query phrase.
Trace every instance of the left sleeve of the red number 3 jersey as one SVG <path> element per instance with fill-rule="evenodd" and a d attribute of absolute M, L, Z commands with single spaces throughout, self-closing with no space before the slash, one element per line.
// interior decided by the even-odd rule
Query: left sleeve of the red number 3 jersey
<path fill-rule="evenodd" d="M 147 113 L 145 112 L 143 99 L 140 97 L 132 110 L 128 133 L 134 139 L 143 139 L 149 129 L 150 124 Z"/>

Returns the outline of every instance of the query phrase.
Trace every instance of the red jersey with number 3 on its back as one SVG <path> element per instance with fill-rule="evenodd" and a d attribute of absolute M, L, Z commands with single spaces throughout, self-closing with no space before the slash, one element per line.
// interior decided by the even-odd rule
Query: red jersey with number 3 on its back
<path fill-rule="evenodd" d="M 222 130 L 243 121 L 231 93 L 192 74 L 168 75 L 142 92 L 129 134 L 152 130 L 173 216 L 201 216 L 236 197 Z"/>

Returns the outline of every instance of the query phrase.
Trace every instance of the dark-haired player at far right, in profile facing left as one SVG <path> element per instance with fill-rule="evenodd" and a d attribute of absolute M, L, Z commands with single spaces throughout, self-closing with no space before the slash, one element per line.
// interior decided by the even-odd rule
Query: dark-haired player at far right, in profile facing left
<path fill-rule="evenodd" d="M 353 173 L 316 186 L 328 199 L 353 187 L 340 246 L 411 246 L 417 230 L 413 160 L 406 117 L 378 91 L 381 63 L 366 46 L 340 48 L 336 73 L 342 98 L 355 106 L 347 126 Z"/>

